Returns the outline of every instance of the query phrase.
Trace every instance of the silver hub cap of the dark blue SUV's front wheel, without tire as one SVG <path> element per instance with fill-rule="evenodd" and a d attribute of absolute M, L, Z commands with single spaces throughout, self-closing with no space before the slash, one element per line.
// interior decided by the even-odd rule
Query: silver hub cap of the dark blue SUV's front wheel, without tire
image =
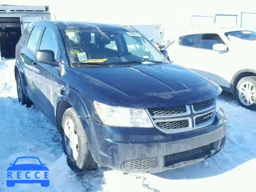
<path fill-rule="evenodd" d="M 73 162 L 76 161 L 78 157 L 78 136 L 76 132 L 76 127 L 71 118 L 67 118 L 64 122 L 64 139 L 66 151 L 68 157 Z"/>

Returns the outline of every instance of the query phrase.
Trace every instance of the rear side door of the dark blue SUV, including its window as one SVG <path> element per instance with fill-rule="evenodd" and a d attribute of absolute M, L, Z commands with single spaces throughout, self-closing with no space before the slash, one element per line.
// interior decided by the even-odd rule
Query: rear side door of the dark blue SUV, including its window
<path fill-rule="evenodd" d="M 33 102 L 35 102 L 34 81 L 37 78 L 35 54 L 42 29 L 41 26 L 35 26 L 30 33 L 26 46 L 23 46 L 20 50 L 20 58 L 23 62 L 24 77 L 26 81 L 25 89 L 28 97 Z"/>

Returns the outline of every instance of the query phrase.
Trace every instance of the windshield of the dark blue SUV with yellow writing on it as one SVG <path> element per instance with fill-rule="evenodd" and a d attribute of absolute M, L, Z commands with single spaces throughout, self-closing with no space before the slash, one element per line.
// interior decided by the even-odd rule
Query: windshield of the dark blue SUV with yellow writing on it
<path fill-rule="evenodd" d="M 168 62 L 135 31 L 72 27 L 63 29 L 62 34 L 71 64 Z"/>

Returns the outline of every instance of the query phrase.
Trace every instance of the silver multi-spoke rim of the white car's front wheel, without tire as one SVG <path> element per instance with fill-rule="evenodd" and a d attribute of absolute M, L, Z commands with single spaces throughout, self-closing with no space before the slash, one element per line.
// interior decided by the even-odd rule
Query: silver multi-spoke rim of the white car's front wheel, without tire
<path fill-rule="evenodd" d="M 256 99 L 256 87 L 249 81 L 243 82 L 238 88 L 238 96 L 242 104 L 250 106 Z"/>

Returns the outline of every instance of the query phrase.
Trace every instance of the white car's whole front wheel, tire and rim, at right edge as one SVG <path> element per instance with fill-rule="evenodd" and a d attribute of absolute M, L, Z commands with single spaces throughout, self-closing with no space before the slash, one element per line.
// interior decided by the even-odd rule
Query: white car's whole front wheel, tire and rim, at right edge
<path fill-rule="evenodd" d="M 236 85 L 236 99 L 242 107 L 256 110 L 256 76 L 240 79 Z"/>

